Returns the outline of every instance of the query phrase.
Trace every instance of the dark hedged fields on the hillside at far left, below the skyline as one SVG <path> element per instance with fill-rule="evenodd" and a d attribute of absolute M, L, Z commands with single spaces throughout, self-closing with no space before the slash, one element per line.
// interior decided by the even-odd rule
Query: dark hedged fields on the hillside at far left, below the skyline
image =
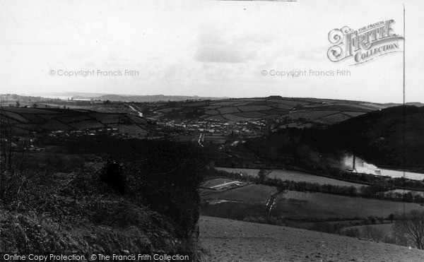
<path fill-rule="evenodd" d="M 3 107 L 1 124 L 16 133 L 117 128 L 122 133 L 148 133 L 146 119 L 123 113 L 98 113 L 81 109 Z"/>

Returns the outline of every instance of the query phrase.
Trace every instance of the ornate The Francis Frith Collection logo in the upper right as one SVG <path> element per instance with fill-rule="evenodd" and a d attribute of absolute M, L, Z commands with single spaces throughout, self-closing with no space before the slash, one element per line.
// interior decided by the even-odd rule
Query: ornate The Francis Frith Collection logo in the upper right
<path fill-rule="evenodd" d="M 379 21 L 358 30 L 348 26 L 329 32 L 329 41 L 334 44 L 327 56 L 333 62 L 342 61 L 353 56 L 354 64 L 362 64 L 377 56 L 399 52 L 399 40 L 404 37 L 396 35 L 391 25 L 394 20 Z"/>

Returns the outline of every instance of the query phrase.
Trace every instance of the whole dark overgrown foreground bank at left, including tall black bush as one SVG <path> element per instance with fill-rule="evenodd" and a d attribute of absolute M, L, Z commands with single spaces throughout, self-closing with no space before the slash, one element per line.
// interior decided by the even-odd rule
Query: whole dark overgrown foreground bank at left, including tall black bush
<path fill-rule="evenodd" d="M 0 252 L 196 253 L 198 149 L 117 140 L 103 156 L 110 161 L 99 172 L 83 161 L 68 173 L 2 170 Z"/>

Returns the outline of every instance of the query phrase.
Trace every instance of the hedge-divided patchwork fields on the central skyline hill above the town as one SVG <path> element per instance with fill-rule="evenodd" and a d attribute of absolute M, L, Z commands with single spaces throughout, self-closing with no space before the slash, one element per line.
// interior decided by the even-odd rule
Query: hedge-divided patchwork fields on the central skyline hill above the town
<path fill-rule="evenodd" d="M 345 100 L 320 100 L 310 98 L 259 97 L 205 102 L 184 102 L 178 107 L 163 105 L 155 112 L 157 117 L 168 114 L 184 115 L 201 112 L 200 119 L 220 121 L 254 121 L 259 119 L 289 117 L 320 123 L 334 124 L 353 116 L 365 114 L 389 105 Z"/>

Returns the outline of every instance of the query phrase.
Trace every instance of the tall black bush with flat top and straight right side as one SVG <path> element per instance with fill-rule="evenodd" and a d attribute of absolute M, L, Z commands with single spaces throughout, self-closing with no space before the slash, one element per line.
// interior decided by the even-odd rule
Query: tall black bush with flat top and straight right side
<path fill-rule="evenodd" d="M 202 174 L 206 173 L 200 148 L 192 143 L 168 140 L 136 140 L 126 148 L 131 150 L 109 160 L 102 180 L 171 218 L 178 225 L 182 239 L 195 237 L 199 220 L 198 190 Z"/>

